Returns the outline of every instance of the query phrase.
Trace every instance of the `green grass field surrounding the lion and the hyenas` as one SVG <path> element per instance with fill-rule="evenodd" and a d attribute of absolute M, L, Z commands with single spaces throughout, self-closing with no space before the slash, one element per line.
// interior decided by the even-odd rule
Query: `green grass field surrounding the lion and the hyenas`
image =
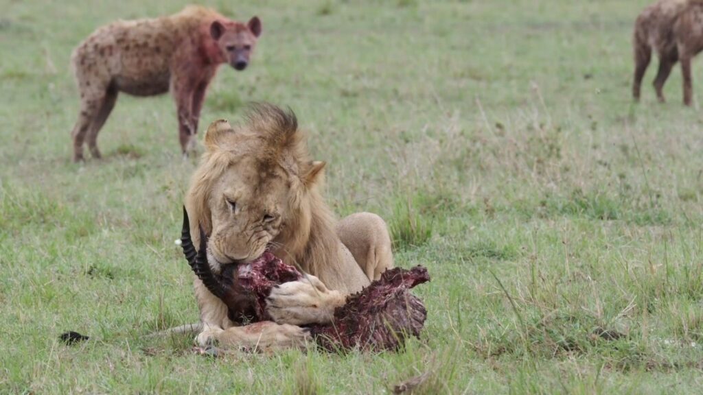
<path fill-rule="evenodd" d="M 382 394 L 423 375 L 425 394 L 699 393 L 703 116 L 678 68 L 656 103 L 656 62 L 631 102 L 646 4 L 209 2 L 264 35 L 248 70 L 220 70 L 201 129 L 290 105 L 337 214 L 380 214 L 396 265 L 432 275 L 405 352 L 213 359 L 147 336 L 198 320 L 172 99 L 121 96 L 105 159 L 70 162 L 72 48 L 183 4 L 0 0 L 0 392 Z"/>

